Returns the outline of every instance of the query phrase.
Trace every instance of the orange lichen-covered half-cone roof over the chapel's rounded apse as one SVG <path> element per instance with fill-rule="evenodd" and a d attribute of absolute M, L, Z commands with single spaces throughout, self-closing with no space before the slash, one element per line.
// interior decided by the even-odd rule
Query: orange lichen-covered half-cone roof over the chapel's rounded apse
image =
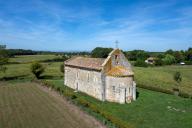
<path fill-rule="evenodd" d="M 134 75 L 131 69 L 127 69 L 124 66 L 115 66 L 108 73 L 108 76 L 126 77 Z"/>

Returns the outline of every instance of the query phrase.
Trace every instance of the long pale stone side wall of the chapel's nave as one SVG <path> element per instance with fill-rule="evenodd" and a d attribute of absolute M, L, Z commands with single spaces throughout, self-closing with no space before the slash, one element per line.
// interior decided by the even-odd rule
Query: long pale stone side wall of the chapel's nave
<path fill-rule="evenodd" d="M 65 85 L 103 100 L 101 72 L 65 66 Z"/>

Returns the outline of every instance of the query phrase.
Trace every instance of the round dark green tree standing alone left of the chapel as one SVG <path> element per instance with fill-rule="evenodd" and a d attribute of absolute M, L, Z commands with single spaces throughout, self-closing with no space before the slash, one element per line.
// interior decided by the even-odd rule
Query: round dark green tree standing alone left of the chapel
<path fill-rule="evenodd" d="M 31 65 L 31 72 L 35 75 L 37 79 L 40 78 L 40 75 L 44 72 L 45 68 L 39 62 L 34 62 Z"/>

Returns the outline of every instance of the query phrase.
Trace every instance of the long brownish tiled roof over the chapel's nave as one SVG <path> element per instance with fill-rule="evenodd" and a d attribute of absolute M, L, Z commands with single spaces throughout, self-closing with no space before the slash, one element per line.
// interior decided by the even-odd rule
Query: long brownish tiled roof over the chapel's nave
<path fill-rule="evenodd" d="M 102 70 L 102 64 L 104 61 L 104 58 L 73 57 L 65 61 L 65 65 L 94 70 Z"/>

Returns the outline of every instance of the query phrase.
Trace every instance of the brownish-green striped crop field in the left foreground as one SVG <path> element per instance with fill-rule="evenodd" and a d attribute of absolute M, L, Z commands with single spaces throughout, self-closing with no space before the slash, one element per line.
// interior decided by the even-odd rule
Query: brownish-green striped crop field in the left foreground
<path fill-rule="evenodd" d="M 93 128 L 101 125 L 34 83 L 0 82 L 0 128 Z"/>

